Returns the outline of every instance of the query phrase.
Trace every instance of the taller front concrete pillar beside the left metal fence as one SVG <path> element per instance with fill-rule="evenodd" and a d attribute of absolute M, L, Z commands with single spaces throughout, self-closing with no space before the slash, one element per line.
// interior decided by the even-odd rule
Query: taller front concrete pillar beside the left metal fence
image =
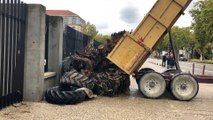
<path fill-rule="evenodd" d="M 27 17 L 23 99 L 40 101 L 44 85 L 46 8 L 38 4 L 29 4 Z"/>

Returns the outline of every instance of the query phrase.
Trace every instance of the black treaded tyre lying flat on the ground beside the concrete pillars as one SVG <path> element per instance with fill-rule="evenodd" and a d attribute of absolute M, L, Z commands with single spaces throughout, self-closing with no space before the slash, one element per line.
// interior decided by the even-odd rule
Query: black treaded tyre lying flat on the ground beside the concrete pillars
<path fill-rule="evenodd" d="M 84 91 L 73 91 L 72 87 L 67 90 L 60 86 L 55 86 L 45 92 L 46 101 L 53 104 L 76 104 L 84 101 L 85 98 Z"/>

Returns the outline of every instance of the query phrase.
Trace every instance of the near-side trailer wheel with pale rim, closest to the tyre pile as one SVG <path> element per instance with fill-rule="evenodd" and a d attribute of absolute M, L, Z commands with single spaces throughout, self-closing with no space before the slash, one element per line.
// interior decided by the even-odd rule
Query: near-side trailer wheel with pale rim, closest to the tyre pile
<path fill-rule="evenodd" d="M 159 98 L 166 89 L 166 81 L 161 74 L 150 72 L 143 75 L 138 86 L 145 97 Z"/>

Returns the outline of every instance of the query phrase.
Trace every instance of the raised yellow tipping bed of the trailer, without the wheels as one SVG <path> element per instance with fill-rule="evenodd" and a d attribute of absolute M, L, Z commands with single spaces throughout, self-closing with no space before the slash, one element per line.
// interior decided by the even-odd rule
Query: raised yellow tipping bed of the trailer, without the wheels
<path fill-rule="evenodd" d="M 107 58 L 128 74 L 137 72 L 192 0 L 158 0 L 135 31 L 125 33 Z"/>

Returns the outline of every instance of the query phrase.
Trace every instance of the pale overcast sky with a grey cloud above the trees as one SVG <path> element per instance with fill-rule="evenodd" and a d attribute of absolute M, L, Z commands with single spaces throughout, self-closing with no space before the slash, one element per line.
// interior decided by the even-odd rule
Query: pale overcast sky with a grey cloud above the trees
<path fill-rule="evenodd" d="M 29 4 L 42 4 L 47 10 L 70 10 L 96 26 L 101 34 L 134 30 L 157 0 L 22 0 Z M 193 0 L 197 1 L 197 0 Z M 175 26 L 187 27 L 192 18 L 185 10 Z"/>

